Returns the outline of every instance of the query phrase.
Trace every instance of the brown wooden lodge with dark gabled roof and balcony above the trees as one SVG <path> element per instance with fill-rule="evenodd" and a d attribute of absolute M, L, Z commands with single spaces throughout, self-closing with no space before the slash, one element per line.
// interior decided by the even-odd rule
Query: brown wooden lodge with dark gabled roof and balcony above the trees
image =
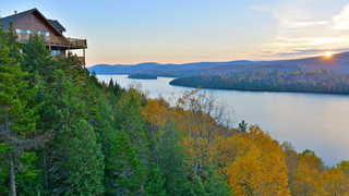
<path fill-rule="evenodd" d="M 27 10 L 13 15 L 0 17 L 0 27 L 12 28 L 17 35 L 20 44 L 26 44 L 31 35 L 40 35 L 45 39 L 47 48 L 55 56 L 67 56 L 71 50 L 82 50 L 79 60 L 85 65 L 86 39 L 65 37 L 65 28 L 57 21 L 45 17 L 37 9 Z"/>

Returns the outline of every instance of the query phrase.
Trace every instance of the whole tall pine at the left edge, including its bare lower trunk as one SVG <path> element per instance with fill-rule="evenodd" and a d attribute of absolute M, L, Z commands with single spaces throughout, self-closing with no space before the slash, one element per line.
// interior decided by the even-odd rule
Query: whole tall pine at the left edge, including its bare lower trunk
<path fill-rule="evenodd" d="M 11 195 L 16 195 L 19 157 L 41 147 L 49 135 L 37 135 L 39 105 L 34 103 L 37 86 L 29 85 L 28 75 L 20 65 L 20 47 L 13 33 L 0 30 L 0 143 L 9 148 L 8 162 Z"/>

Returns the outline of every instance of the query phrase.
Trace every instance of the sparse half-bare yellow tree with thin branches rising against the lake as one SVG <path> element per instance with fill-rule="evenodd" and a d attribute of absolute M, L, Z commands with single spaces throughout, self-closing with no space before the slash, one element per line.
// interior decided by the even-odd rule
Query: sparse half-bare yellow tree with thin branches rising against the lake
<path fill-rule="evenodd" d="M 197 90 L 185 91 L 173 109 L 176 126 L 183 134 L 182 145 L 186 149 L 189 160 L 195 173 L 210 164 L 210 146 L 219 136 L 227 134 L 224 128 L 224 113 L 212 97 Z"/>

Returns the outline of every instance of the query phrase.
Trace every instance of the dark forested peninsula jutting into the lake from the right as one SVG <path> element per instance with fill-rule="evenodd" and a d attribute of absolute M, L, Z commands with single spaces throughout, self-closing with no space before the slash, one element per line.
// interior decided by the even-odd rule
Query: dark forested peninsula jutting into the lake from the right
<path fill-rule="evenodd" d="M 326 70 L 312 72 L 248 72 L 231 76 L 180 77 L 171 85 L 253 91 L 349 94 L 349 74 Z"/>

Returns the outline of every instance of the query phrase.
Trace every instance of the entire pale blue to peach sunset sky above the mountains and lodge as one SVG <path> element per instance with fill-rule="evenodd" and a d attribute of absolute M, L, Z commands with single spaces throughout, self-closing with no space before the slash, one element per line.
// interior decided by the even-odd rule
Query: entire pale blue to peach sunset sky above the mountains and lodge
<path fill-rule="evenodd" d="M 88 65 L 275 60 L 349 51 L 348 0 L 0 0 L 86 38 Z"/>

